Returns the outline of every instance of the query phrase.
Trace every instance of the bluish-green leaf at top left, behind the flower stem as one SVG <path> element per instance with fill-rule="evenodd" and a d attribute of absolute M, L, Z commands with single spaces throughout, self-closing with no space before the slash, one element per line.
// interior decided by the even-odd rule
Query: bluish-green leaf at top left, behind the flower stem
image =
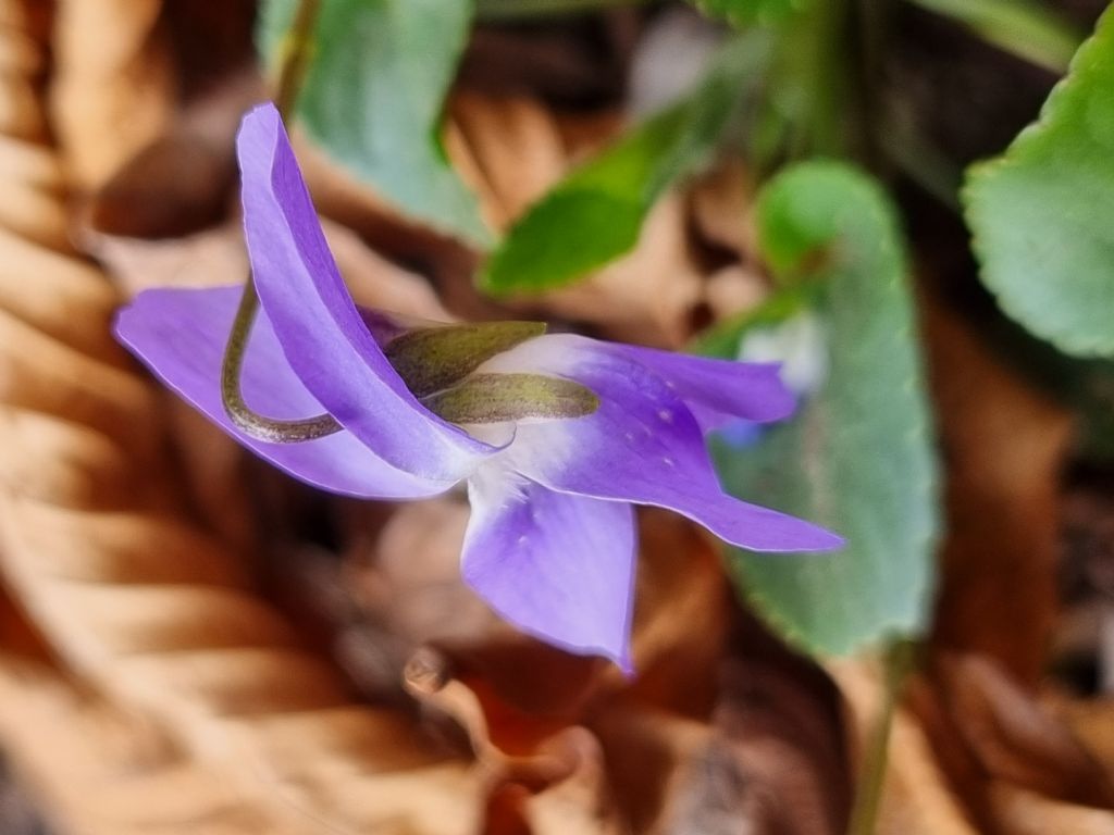
<path fill-rule="evenodd" d="M 260 43 L 272 61 L 295 6 L 263 3 Z M 321 0 L 297 116 L 329 156 L 402 212 L 487 244 L 477 200 L 438 138 L 471 16 L 471 0 Z"/>

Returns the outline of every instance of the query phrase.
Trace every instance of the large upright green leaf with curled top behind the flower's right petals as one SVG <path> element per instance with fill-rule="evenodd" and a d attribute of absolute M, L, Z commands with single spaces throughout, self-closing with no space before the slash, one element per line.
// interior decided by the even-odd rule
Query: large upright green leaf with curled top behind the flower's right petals
<path fill-rule="evenodd" d="M 848 544 L 833 554 L 732 551 L 729 566 L 758 609 L 812 652 L 916 635 L 932 589 L 936 463 L 895 210 L 871 179 L 836 163 L 788 169 L 758 210 L 760 244 L 786 286 L 741 323 L 744 356 L 759 340 L 778 344 L 769 337 L 780 318 L 813 334 L 803 358 L 809 376 L 821 375 L 792 420 L 750 445 L 726 433 L 713 453 L 730 492 Z M 811 327 L 798 327 L 802 316 Z M 716 344 L 723 353 L 723 334 Z M 797 347 L 783 367 L 790 381 Z"/>

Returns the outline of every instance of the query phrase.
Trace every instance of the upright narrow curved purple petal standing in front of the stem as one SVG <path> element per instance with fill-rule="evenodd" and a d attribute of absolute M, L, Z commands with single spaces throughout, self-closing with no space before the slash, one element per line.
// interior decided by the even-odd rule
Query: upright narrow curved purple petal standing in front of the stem
<path fill-rule="evenodd" d="M 272 105 L 237 138 L 244 229 L 263 310 L 305 387 L 391 464 L 457 480 L 495 451 L 422 406 L 375 344 L 344 286 Z"/>

